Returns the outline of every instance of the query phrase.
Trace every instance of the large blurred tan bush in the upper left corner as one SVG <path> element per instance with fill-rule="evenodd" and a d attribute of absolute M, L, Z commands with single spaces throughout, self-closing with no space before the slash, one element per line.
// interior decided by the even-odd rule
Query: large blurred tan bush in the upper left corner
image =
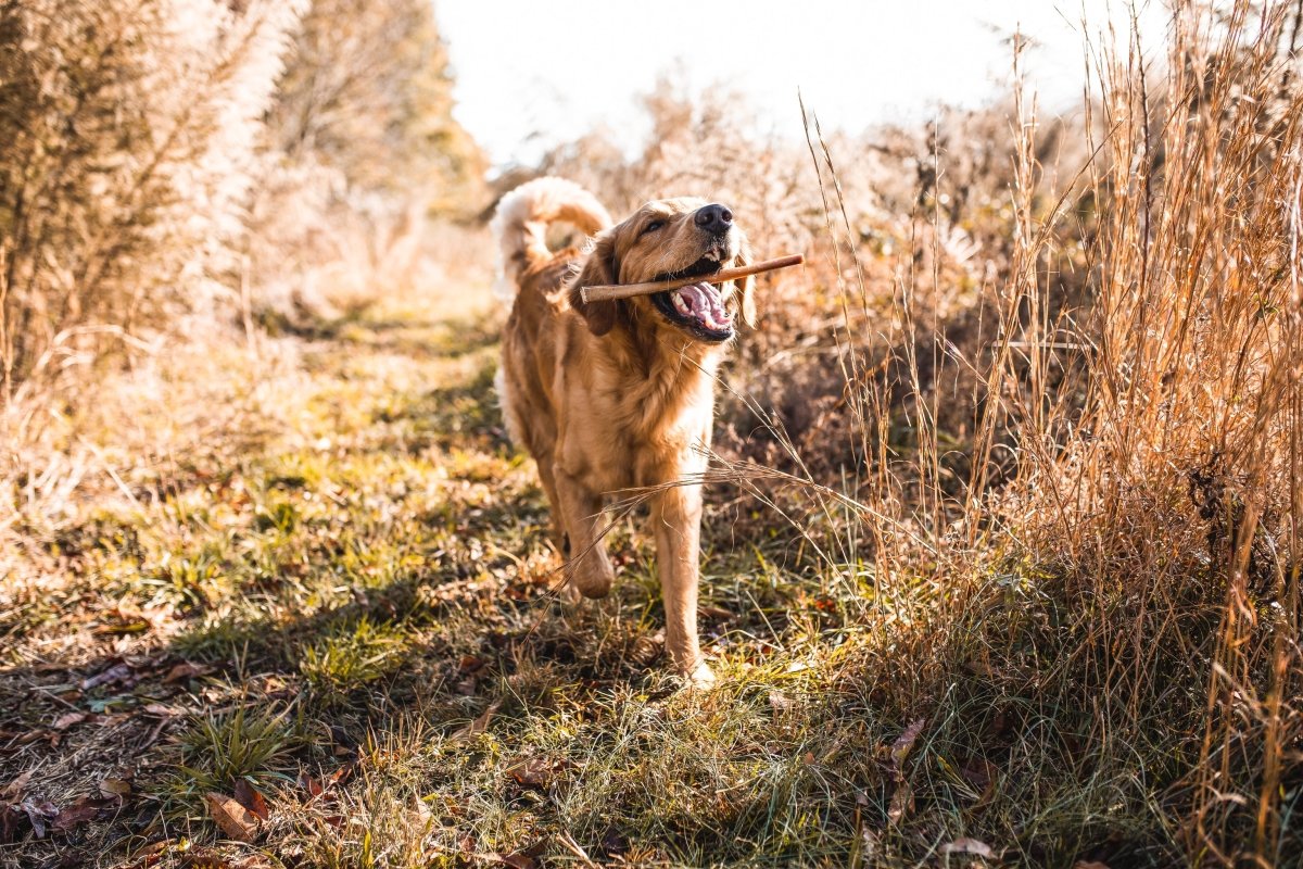
<path fill-rule="evenodd" d="M 0 4 L 0 298 L 18 382 L 232 285 L 261 119 L 298 4 Z"/>

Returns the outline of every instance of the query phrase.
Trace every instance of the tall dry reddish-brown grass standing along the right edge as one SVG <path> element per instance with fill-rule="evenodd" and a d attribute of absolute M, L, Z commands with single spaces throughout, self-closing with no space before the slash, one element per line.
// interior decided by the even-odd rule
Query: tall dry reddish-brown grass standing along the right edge
<path fill-rule="evenodd" d="M 899 786 L 904 855 L 938 827 L 1036 865 L 1303 853 L 1298 29 L 1286 4 L 1178 4 L 1166 56 L 1104 44 L 1076 163 L 1046 160 L 1019 89 L 976 332 L 928 304 L 958 294 L 939 257 L 898 261 L 890 306 L 939 340 L 880 362 L 844 315 L 863 521 L 827 551 L 870 563 L 835 571 L 872 577 L 887 625 L 864 679 L 936 722 L 942 767 Z M 831 154 L 813 130 L 839 294 L 872 323 Z M 921 199 L 933 248 L 943 193 Z M 998 771 L 1001 799 L 959 812 L 946 758 Z"/>

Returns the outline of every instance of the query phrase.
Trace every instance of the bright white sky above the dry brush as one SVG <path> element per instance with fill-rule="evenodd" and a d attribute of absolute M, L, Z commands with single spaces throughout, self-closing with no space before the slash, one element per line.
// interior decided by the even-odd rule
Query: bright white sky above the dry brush
<path fill-rule="evenodd" d="M 1136 0 L 1147 55 L 1166 10 Z M 1085 14 L 1109 0 L 437 0 L 457 77 L 456 117 L 498 165 L 605 126 L 625 147 L 646 125 L 637 95 L 678 68 L 689 87 L 745 94 L 762 129 L 801 135 L 796 90 L 825 129 L 925 119 L 938 102 L 1009 93 L 1009 36 L 1037 44 L 1028 79 L 1046 109 L 1079 102 Z M 1113 0 L 1126 33 L 1124 0 Z M 1068 22 L 1072 23 L 1068 23 Z"/>

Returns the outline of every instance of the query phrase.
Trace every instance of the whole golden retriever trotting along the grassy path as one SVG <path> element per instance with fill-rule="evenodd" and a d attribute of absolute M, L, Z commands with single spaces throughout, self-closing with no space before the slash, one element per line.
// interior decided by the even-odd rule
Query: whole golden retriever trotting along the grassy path
<path fill-rule="evenodd" d="M 549 224 L 593 236 L 551 251 Z M 652 530 L 666 611 L 666 649 L 692 681 L 714 680 L 697 642 L 700 474 L 714 418 L 715 370 L 737 321 L 752 326 L 751 279 L 585 304 L 580 288 L 705 278 L 748 264 L 727 206 L 648 202 L 610 225 L 592 194 L 538 178 L 507 194 L 494 231 L 515 304 L 502 343 L 498 393 L 512 439 L 538 463 L 566 577 L 589 598 L 611 590 L 601 539 L 603 498 L 658 487 Z"/>

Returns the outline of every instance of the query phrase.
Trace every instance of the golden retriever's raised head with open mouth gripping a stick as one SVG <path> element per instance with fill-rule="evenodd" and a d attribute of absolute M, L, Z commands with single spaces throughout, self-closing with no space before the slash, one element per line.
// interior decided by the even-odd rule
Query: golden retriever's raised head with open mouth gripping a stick
<path fill-rule="evenodd" d="M 749 263 L 747 236 L 727 206 L 696 198 L 657 199 L 597 236 L 571 279 L 569 302 L 594 335 L 606 335 L 624 317 L 629 323 L 658 323 L 705 344 L 722 344 L 734 336 L 736 318 L 754 326 L 751 278 L 718 287 L 702 280 L 654 296 L 598 302 L 585 302 L 580 288 L 709 278 Z"/>

